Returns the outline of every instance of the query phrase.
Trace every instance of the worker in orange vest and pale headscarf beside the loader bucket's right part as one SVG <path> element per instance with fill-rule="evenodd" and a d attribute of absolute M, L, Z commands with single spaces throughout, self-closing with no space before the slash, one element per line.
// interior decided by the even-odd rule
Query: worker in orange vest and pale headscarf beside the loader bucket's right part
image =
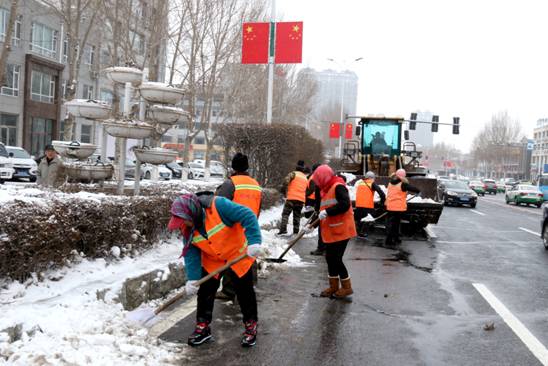
<path fill-rule="evenodd" d="M 387 235 L 385 246 L 394 248 L 401 244 L 400 223 L 401 217 L 407 211 L 407 192 L 419 193 L 420 190 L 409 184 L 404 169 L 398 169 L 396 173 L 390 176 L 388 183 L 388 192 L 386 194 Z"/>

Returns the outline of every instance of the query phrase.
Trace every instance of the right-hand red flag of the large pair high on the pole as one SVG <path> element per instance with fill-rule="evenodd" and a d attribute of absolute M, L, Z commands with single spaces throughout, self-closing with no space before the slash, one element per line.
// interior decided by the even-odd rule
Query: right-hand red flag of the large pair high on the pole
<path fill-rule="evenodd" d="M 277 64 L 300 64 L 303 58 L 303 22 L 276 23 Z"/>

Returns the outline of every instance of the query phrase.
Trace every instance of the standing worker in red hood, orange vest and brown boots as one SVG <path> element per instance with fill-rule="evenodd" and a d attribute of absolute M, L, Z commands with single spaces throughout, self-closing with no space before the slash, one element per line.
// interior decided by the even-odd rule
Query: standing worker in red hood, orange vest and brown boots
<path fill-rule="evenodd" d="M 350 196 L 344 180 L 336 176 L 328 165 L 320 165 L 313 179 L 321 195 L 318 216 L 329 273 L 329 287 L 320 296 L 343 298 L 353 293 L 350 275 L 343 263 L 348 241 L 356 236 Z"/>

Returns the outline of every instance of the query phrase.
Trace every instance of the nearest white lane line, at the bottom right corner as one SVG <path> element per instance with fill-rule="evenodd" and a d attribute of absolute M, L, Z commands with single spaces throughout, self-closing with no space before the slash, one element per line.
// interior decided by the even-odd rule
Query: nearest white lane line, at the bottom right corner
<path fill-rule="evenodd" d="M 474 283 L 473 286 L 481 296 L 491 305 L 491 307 L 499 314 L 504 322 L 512 329 L 512 331 L 521 339 L 521 341 L 529 348 L 535 357 L 545 366 L 548 366 L 548 350 L 540 341 L 508 310 L 499 299 L 493 295 L 491 291 L 482 283 Z"/>

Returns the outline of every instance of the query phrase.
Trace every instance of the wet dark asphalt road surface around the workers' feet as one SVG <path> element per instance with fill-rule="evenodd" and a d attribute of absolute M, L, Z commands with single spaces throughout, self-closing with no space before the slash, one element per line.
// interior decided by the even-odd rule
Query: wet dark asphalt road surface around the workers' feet
<path fill-rule="evenodd" d="M 401 251 L 354 240 L 345 254 L 351 301 L 316 296 L 326 264 L 308 254 L 315 241 L 303 240 L 296 250 L 309 266 L 260 280 L 256 347 L 240 347 L 239 308 L 222 301 L 214 342 L 184 344 L 195 313 L 160 338 L 183 343 L 185 365 L 540 365 L 473 286 L 484 284 L 548 345 L 548 252 L 523 230 L 540 232 L 540 218 L 541 209 L 508 206 L 499 194 L 475 210 L 446 207 L 436 239 L 406 241 Z"/>

